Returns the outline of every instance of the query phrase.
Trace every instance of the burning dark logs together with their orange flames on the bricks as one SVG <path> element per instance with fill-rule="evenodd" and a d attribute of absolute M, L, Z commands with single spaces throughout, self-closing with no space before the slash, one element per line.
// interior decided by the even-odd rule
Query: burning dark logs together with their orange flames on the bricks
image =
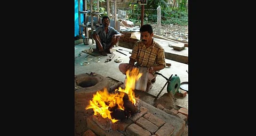
<path fill-rule="evenodd" d="M 138 111 L 135 107 L 134 88 L 135 82 L 141 75 L 138 68 L 127 71 L 125 89 L 119 87 L 119 90 L 116 89 L 113 94 L 110 94 L 107 88 L 104 88 L 103 91 L 97 91 L 90 100 L 90 105 L 85 109 L 92 108 L 94 115 L 100 114 L 103 118 L 108 117 L 113 123 L 129 118 L 131 114 Z"/>

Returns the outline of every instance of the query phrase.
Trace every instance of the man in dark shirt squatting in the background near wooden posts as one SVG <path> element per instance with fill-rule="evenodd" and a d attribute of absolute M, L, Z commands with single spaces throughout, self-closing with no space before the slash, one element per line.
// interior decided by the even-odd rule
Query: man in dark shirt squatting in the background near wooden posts
<path fill-rule="evenodd" d="M 98 27 L 93 32 L 92 37 L 95 40 L 96 49 L 98 49 L 103 56 L 107 56 L 106 53 L 111 54 L 110 49 L 117 44 L 120 39 L 119 37 L 123 34 L 109 26 L 110 19 L 108 16 L 102 17 L 102 24 L 102 26 Z"/>

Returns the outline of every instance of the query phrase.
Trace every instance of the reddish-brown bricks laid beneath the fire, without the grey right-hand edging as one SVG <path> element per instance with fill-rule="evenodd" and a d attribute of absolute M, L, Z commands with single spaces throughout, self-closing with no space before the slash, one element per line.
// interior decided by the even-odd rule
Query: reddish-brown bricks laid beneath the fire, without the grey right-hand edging
<path fill-rule="evenodd" d="M 165 122 L 154 114 L 148 112 L 148 109 L 141 106 L 139 111 L 133 114 L 129 119 L 111 123 L 108 118 L 101 115 L 92 115 L 86 118 L 86 135 L 172 135 L 175 127 L 172 122 Z"/>

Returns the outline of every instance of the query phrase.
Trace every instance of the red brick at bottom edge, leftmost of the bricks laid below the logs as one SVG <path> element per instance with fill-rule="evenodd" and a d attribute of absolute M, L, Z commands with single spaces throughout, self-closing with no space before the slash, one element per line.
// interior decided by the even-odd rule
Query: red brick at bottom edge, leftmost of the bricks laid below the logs
<path fill-rule="evenodd" d="M 139 125 L 133 123 L 128 126 L 126 129 L 126 132 L 133 136 L 150 136 L 151 133 L 143 128 L 141 128 Z"/>

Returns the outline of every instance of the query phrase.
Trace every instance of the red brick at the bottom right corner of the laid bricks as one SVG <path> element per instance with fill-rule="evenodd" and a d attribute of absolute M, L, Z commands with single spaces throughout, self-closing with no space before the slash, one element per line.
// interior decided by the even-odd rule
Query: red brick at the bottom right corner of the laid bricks
<path fill-rule="evenodd" d="M 159 130 L 156 131 L 157 136 L 170 136 L 172 135 L 175 127 L 170 123 L 166 122 Z"/>

